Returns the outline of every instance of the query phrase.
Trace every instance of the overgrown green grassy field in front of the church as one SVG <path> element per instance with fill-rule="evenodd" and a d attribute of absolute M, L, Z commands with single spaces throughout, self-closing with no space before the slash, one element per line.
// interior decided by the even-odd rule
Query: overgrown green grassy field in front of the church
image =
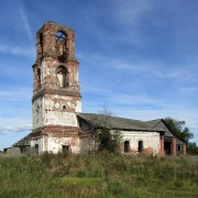
<path fill-rule="evenodd" d="M 196 156 L 0 156 L 0 197 L 198 197 Z"/>

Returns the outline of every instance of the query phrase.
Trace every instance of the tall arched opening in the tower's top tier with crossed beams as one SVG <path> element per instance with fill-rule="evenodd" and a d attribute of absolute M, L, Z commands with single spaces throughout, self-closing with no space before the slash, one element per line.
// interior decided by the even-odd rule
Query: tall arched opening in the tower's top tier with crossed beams
<path fill-rule="evenodd" d="M 62 31 L 56 33 L 56 53 L 59 62 L 64 62 L 67 57 L 67 36 Z"/>

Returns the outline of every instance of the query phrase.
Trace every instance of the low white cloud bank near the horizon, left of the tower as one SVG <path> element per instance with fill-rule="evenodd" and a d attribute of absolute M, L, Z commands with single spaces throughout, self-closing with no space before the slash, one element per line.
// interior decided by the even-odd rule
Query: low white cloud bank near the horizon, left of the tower
<path fill-rule="evenodd" d="M 31 124 L 0 127 L 0 134 L 19 133 L 24 131 L 31 131 Z"/>

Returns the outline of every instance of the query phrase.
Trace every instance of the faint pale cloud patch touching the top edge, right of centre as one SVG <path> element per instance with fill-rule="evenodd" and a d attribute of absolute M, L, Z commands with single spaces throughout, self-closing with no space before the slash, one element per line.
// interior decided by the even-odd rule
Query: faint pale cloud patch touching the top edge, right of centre
<path fill-rule="evenodd" d="M 116 26 L 122 26 L 110 34 L 112 42 L 128 43 L 132 46 L 145 46 L 142 21 L 153 10 L 154 3 L 148 0 L 119 0 L 113 1 L 113 19 Z M 118 33 L 119 32 L 119 33 Z"/>

